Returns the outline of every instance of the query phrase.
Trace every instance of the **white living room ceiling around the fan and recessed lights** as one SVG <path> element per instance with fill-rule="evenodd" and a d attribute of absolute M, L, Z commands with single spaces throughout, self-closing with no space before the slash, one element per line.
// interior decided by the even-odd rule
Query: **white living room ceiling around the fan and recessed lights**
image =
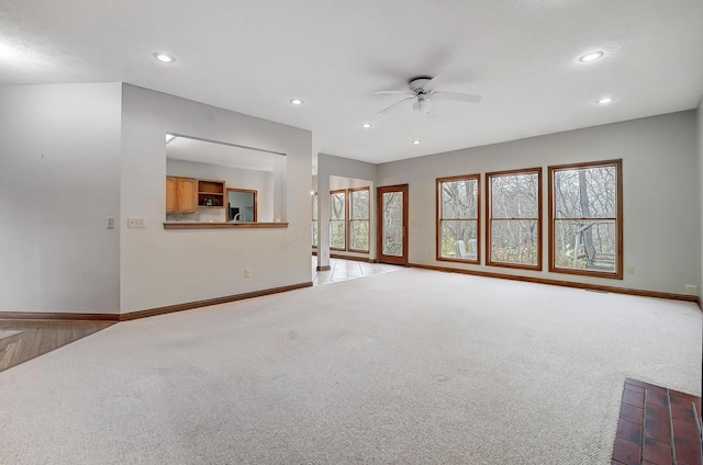
<path fill-rule="evenodd" d="M 605 57 L 578 61 L 593 49 Z M 397 98 L 372 91 L 437 73 L 440 89 L 483 100 L 376 114 Z M 696 107 L 703 1 L 0 0 L 0 83 L 98 81 L 310 129 L 315 154 L 382 162 Z M 614 102 L 596 104 L 604 95 Z"/>

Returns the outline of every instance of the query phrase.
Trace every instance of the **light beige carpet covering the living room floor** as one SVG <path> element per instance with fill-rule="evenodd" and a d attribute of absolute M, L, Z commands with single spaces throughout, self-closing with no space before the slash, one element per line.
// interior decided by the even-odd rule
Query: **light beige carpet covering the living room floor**
<path fill-rule="evenodd" d="M 121 322 L 0 373 L 2 464 L 610 464 L 689 303 L 409 269 Z"/>

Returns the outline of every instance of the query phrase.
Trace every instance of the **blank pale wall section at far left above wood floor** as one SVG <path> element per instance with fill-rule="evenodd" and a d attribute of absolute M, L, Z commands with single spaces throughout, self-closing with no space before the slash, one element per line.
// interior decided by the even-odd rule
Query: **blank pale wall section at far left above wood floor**
<path fill-rule="evenodd" d="M 0 311 L 119 311 L 121 94 L 0 86 Z"/>

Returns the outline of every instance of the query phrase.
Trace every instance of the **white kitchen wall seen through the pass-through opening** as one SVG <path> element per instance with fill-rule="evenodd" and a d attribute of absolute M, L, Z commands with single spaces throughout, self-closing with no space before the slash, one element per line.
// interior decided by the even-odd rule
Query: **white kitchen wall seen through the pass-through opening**
<path fill-rule="evenodd" d="M 250 189 L 256 191 L 257 220 L 274 222 L 274 173 L 269 171 L 245 170 L 241 168 L 222 167 L 210 163 L 198 163 L 185 160 L 166 160 L 166 174 L 197 178 L 216 179 L 225 182 L 225 189 Z M 170 220 L 226 220 L 225 208 L 201 208 L 193 215 L 167 215 Z M 202 218 L 200 218 L 202 216 Z"/>

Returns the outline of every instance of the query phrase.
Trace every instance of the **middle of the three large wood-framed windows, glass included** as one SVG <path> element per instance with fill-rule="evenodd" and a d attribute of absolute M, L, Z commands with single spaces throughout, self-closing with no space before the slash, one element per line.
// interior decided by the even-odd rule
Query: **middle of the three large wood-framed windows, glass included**
<path fill-rule="evenodd" d="M 487 264 L 542 270 L 542 169 L 487 173 Z"/>

